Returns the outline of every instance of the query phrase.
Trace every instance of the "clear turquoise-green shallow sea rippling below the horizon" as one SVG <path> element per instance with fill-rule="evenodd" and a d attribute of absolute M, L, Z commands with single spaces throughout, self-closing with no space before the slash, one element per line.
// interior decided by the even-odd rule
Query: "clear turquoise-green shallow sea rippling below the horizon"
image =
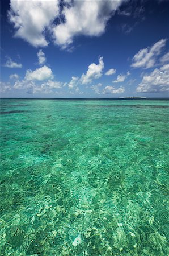
<path fill-rule="evenodd" d="M 164 255 L 167 100 L 1 100 L 0 255 Z"/>

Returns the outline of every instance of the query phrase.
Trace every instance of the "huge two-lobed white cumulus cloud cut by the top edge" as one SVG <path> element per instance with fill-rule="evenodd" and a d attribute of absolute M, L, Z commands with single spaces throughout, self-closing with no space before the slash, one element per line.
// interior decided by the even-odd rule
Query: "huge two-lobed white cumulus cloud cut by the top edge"
<path fill-rule="evenodd" d="M 48 29 L 54 43 L 65 48 L 73 42 L 74 36 L 103 34 L 108 20 L 124 1 L 10 0 L 8 15 L 14 24 L 15 36 L 32 46 L 48 45 L 45 37 L 45 29 Z"/>

